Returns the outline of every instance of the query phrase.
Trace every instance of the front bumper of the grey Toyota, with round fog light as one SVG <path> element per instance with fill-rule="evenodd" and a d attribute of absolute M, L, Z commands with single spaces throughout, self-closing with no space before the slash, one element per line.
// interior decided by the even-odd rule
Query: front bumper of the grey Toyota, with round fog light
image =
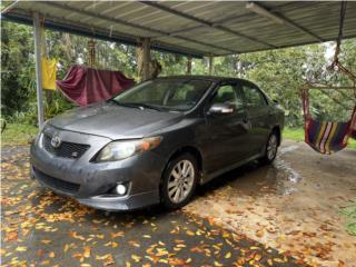
<path fill-rule="evenodd" d="M 148 151 L 119 161 L 91 162 L 111 140 L 78 132 L 58 131 L 63 140 L 85 140 L 91 147 L 78 159 L 56 157 L 39 138 L 31 146 L 31 174 L 44 187 L 79 202 L 106 210 L 137 209 L 159 202 L 159 182 L 165 160 Z M 128 185 L 125 196 L 108 196 L 117 184 Z"/>

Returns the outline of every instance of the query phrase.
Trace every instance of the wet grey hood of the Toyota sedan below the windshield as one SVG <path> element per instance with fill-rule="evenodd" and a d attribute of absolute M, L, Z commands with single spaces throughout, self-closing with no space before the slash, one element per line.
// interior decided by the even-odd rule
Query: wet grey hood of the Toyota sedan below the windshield
<path fill-rule="evenodd" d="M 182 117 L 180 112 L 160 112 L 103 102 L 69 110 L 51 119 L 49 125 L 70 131 L 125 139 L 148 136 L 179 122 Z"/>

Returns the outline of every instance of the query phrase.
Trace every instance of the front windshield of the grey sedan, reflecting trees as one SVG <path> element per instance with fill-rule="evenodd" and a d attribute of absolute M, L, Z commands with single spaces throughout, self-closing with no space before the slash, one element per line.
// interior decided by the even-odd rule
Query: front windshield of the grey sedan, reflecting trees
<path fill-rule="evenodd" d="M 122 106 L 186 111 L 199 101 L 210 85 L 208 80 L 157 79 L 132 87 L 111 100 Z"/>

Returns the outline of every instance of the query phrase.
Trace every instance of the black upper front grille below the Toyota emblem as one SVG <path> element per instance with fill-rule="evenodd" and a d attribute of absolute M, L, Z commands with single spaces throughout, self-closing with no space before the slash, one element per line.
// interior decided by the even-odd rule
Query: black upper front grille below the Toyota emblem
<path fill-rule="evenodd" d="M 58 148 L 55 148 L 51 145 L 51 137 L 47 135 L 43 136 L 43 147 L 48 152 L 57 157 L 71 159 L 80 158 L 90 148 L 89 145 L 67 141 L 62 141 Z"/>

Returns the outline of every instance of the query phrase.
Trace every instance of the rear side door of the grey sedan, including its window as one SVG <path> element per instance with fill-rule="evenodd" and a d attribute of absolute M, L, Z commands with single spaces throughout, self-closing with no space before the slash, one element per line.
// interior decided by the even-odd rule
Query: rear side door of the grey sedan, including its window
<path fill-rule="evenodd" d="M 269 135 L 270 112 L 268 101 L 259 88 L 248 81 L 241 83 L 244 103 L 250 128 L 250 145 L 254 152 L 259 152 Z"/>

